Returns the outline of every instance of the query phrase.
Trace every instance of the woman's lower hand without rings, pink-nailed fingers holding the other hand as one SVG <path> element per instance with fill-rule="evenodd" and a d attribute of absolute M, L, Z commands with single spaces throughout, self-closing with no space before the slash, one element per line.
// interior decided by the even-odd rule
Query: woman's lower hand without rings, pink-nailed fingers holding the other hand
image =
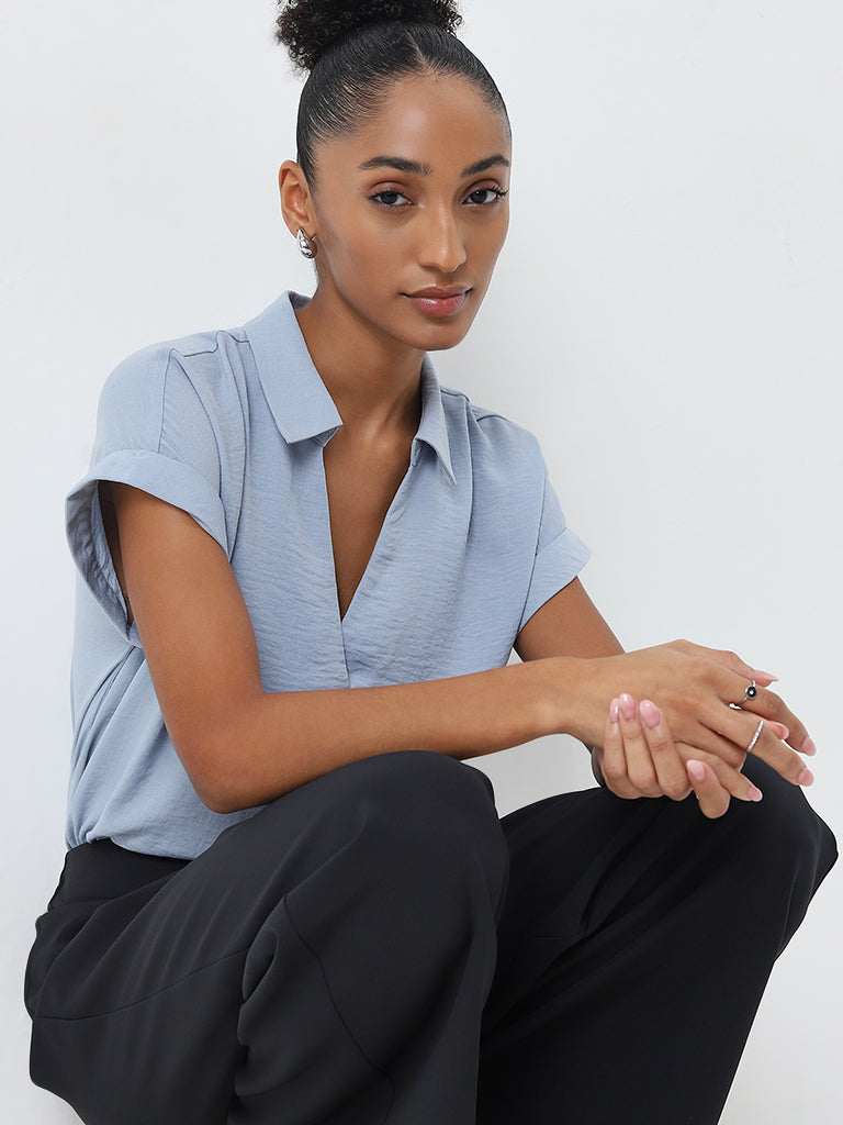
<path fill-rule="evenodd" d="M 661 711 L 650 700 L 642 700 L 641 705 L 627 694 L 613 700 L 604 745 L 593 747 L 591 756 L 597 780 L 626 800 L 669 796 L 682 801 L 692 791 L 703 814 L 715 818 L 723 816 L 733 795 L 710 766 L 694 757 L 683 759 Z M 762 799 L 747 777 L 741 775 L 741 781 L 742 792 L 734 795 L 745 801 Z"/>

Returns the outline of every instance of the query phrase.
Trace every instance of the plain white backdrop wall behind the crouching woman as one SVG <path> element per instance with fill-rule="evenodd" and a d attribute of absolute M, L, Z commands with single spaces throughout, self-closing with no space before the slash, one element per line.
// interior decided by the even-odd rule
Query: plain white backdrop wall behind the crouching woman
<path fill-rule="evenodd" d="M 439 378 L 538 434 L 627 648 L 688 636 L 779 675 L 819 748 L 812 801 L 841 829 L 843 9 L 464 7 L 513 118 L 513 225 Z M 0 15 L 8 1122 L 75 1120 L 29 1084 L 20 993 L 63 855 L 63 497 L 100 386 L 144 344 L 310 291 L 277 202 L 299 83 L 273 18 L 272 0 Z M 473 764 L 501 813 L 589 783 L 564 738 Z M 777 966 L 726 1125 L 840 1120 L 842 914 L 835 871 Z"/>

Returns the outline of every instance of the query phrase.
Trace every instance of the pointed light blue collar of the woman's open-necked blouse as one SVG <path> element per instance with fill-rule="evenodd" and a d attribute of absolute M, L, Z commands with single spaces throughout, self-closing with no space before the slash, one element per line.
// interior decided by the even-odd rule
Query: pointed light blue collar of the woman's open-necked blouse
<path fill-rule="evenodd" d="M 296 310 L 308 302 L 297 292 L 284 292 L 245 325 L 263 393 L 275 425 L 288 443 L 314 438 L 326 446 L 343 424 L 328 389 L 314 367 L 296 320 Z M 442 392 L 425 356 L 422 363 L 422 421 L 413 440 L 411 464 L 420 443 L 429 446 L 454 480 L 447 420 Z"/>

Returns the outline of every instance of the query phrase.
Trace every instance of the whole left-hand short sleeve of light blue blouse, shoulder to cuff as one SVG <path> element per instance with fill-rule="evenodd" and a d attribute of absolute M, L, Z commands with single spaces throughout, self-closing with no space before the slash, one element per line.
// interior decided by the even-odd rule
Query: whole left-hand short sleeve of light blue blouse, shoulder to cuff
<path fill-rule="evenodd" d="M 229 554 L 214 425 L 172 351 L 147 349 L 111 374 L 89 470 L 66 501 L 71 554 L 118 631 L 137 644 L 106 540 L 99 482 L 133 485 L 182 508 Z"/>

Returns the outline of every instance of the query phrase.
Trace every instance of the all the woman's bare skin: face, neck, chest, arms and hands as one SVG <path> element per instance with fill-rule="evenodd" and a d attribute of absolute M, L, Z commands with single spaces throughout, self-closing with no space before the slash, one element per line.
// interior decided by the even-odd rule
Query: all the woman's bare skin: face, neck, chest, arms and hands
<path fill-rule="evenodd" d="M 316 183 L 293 162 L 281 169 L 284 222 L 317 248 L 318 287 L 299 324 L 343 418 L 324 458 L 342 613 L 407 471 L 423 356 L 462 340 L 489 285 L 507 231 L 509 161 L 508 129 L 474 88 L 425 75 L 396 83 L 373 120 L 325 143 Z M 430 287 L 463 296 L 430 306 L 418 296 Z M 732 798 L 758 800 L 740 771 L 761 718 L 753 753 L 809 783 L 795 752 L 813 744 L 769 690 L 772 677 L 687 641 L 624 654 L 577 579 L 522 630 L 519 665 L 389 687 L 265 692 L 218 544 L 136 488 L 103 484 L 101 496 L 167 730 L 216 811 L 265 803 L 374 754 L 413 747 L 471 758 L 564 731 L 595 748 L 596 775 L 619 796 L 680 800 L 692 790 L 716 817 Z M 752 678 L 760 691 L 746 702 Z M 729 705 L 737 702 L 741 710 Z"/>

